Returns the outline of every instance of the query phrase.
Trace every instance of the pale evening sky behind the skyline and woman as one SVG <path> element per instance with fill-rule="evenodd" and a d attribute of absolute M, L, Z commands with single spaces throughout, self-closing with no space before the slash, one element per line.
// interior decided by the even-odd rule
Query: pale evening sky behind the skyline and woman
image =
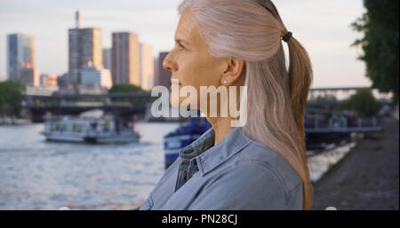
<path fill-rule="evenodd" d="M 370 86 L 350 24 L 364 12 L 362 0 L 273 0 L 284 25 L 304 45 L 314 68 L 313 87 Z M 40 74 L 68 71 L 68 28 L 81 12 L 83 28 L 101 28 L 103 48 L 113 32 L 130 31 L 160 51 L 173 48 L 180 0 L 0 0 L 0 81 L 6 79 L 6 35 L 36 38 Z M 284 45 L 286 46 L 286 45 Z M 287 49 L 285 50 L 287 53 Z"/>

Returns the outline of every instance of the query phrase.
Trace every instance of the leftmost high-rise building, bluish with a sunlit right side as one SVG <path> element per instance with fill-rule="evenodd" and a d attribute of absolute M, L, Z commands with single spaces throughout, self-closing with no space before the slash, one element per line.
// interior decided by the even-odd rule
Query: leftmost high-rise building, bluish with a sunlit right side
<path fill-rule="evenodd" d="M 30 70 L 30 71 L 29 71 Z M 34 82 L 35 78 L 35 37 L 26 34 L 7 35 L 7 78 L 21 83 Z M 22 79 L 23 75 L 23 80 Z"/>

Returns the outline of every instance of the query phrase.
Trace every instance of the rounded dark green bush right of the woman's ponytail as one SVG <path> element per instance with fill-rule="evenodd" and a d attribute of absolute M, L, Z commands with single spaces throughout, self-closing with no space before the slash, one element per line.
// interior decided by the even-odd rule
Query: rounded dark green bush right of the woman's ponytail
<path fill-rule="evenodd" d="M 369 89 L 357 90 L 356 94 L 341 101 L 338 106 L 340 111 L 352 110 L 364 116 L 376 114 L 380 111 L 380 108 L 382 108 L 382 104 L 373 97 L 372 91 Z"/>

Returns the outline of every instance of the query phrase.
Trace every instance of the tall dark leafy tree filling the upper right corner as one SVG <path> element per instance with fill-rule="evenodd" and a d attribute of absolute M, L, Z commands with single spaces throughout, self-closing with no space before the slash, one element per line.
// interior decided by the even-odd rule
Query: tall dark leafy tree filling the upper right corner
<path fill-rule="evenodd" d="M 393 92 L 393 102 L 398 103 L 398 4 L 393 0 L 364 0 L 367 12 L 351 24 L 364 37 L 352 46 L 361 46 L 361 59 L 366 64 L 366 76 L 372 88 L 380 92 Z"/>

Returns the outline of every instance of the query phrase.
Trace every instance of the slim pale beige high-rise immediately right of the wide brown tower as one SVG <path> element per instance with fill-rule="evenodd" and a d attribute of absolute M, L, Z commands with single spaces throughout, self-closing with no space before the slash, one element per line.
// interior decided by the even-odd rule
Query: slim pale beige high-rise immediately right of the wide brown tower
<path fill-rule="evenodd" d="M 151 90 L 154 86 L 153 50 L 148 43 L 140 43 L 140 83 L 143 90 Z"/>

